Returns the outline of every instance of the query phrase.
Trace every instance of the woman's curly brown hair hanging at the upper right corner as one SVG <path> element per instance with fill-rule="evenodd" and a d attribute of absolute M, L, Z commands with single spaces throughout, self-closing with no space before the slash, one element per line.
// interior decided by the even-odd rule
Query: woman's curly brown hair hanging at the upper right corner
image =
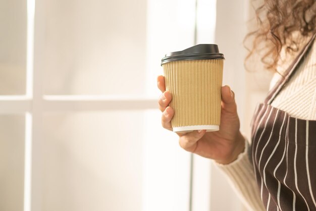
<path fill-rule="evenodd" d="M 264 4 L 255 7 L 256 29 L 248 33 L 244 45 L 248 50 L 245 66 L 250 57 L 257 54 L 265 68 L 277 71 L 281 50 L 294 55 L 304 38 L 313 34 L 316 21 L 316 0 L 264 0 Z M 298 35 L 298 36 L 297 36 Z M 245 41 L 250 41 L 247 47 Z"/>

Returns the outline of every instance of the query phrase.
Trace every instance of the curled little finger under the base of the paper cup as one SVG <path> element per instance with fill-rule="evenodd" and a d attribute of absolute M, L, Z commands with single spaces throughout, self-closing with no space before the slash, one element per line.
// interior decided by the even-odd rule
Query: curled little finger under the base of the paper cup
<path fill-rule="evenodd" d="M 197 146 L 197 141 L 200 140 L 205 133 L 206 130 L 195 130 L 186 133 L 185 135 L 180 136 L 179 144 L 183 149 L 189 152 L 194 152 Z"/>

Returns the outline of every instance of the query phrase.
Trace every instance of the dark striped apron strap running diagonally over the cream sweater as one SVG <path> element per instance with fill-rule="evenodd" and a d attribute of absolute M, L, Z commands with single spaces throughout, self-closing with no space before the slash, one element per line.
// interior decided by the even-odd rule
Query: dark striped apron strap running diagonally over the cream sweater
<path fill-rule="evenodd" d="M 271 104 L 274 98 L 277 96 L 277 94 L 281 91 L 281 89 L 285 86 L 285 84 L 289 81 L 293 73 L 298 67 L 298 64 L 302 61 L 302 58 L 306 54 L 306 52 L 309 50 L 311 44 L 313 43 L 314 39 L 316 37 L 316 33 L 313 34 L 311 39 L 308 41 L 308 43 L 303 47 L 303 49 L 300 51 L 299 55 L 296 57 L 296 59 L 291 63 L 291 65 L 288 67 L 288 69 L 285 71 L 285 76 L 282 77 L 276 85 L 269 91 L 268 96 L 265 99 L 265 103 Z"/>

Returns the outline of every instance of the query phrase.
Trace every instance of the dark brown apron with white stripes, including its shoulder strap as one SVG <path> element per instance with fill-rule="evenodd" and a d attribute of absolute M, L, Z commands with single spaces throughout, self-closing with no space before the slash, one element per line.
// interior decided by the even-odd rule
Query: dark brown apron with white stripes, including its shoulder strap
<path fill-rule="evenodd" d="M 316 121 L 297 119 L 271 106 L 314 39 L 315 34 L 252 119 L 249 155 L 267 210 L 316 210 Z"/>

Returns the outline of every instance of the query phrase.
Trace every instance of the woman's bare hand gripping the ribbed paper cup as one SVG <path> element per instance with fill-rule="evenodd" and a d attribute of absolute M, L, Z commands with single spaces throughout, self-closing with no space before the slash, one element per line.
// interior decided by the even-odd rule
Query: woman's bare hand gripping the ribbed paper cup
<path fill-rule="evenodd" d="M 162 114 L 162 125 L 171 130 L 171 119 L 174 110 L 169 107 L 172 94 L 166 91 L 165 78 L 157 78 L 158 88 L 163 92 L 159 98 L 159 109 Z M 244 150 L 244 137 L 239 128 L 239 118 L 235 94 L 229 86 L 222 87 L 222 109 L 220 130 L 206 132 L 205 130 L 192 131 L 189 133 L 178 133 L 179 144 L 189 152 L 199 154 L 203 157 L 215 160 L 220 164 L 229 164 L 235 161 Z"/>

